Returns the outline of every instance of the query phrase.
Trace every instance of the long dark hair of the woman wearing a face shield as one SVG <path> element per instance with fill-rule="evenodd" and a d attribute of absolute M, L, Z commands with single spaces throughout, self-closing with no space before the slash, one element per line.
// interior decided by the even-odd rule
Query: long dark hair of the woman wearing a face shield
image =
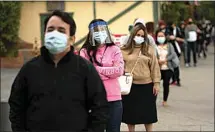
<path fill-rule="evenodd" d="M 94 19 L 94 20 L 92 20 L 91 22 L 90 22 L 90 24 L 92 24 L 92 23 L 94 23 L 94 22 L 99 22 L 99 21 L 103 21 L 103 22 L 105 22 L 103 19 Z M 89 25 L 90 25 L 89 24 Z M 109 30 L 107 31 L 108 32 L 108 36 L 111 36 L 110 35 L 110 32 L 109 32 Z M 97 61 L 97 59 L 96 59 L 96 54 L 97 54 L 97 50 L 98 50 L 98 48 L 99 48 L 99 44 L 95 41 L 95 44 L 96 44 L 96 46 L 92 46 L 92 34 L 90 33 L 90 31 L 89 31 L 89 33 L 88 33 L 88 35 L 87 35 L 87 38 L 86 38 L 86 41 L 84 42 L 84 44 L 83 44 L 83 46 L 81 47 L 81 49 L 83 49 L 83 48 L 85 48 L 86 50 L 87 50 L 87 55 L 89 56 L 89 58 L 90 58 L 90 61 L 93 63 L 93 62 L 95 62 L 98 66 L 102 66 L 102 64 L 101 63 L 99 63 L 98 61 Z M 109 46 L 113 46 L 113 45 L 115 45 L 114 44 L 114 42 L 111 40 L 111 43 L 106 43 L 105 44 L 105 46 L 107 46 L 107 48 L 109 47 Z M 92 53 L 92 54 L 91 54 Z"/>

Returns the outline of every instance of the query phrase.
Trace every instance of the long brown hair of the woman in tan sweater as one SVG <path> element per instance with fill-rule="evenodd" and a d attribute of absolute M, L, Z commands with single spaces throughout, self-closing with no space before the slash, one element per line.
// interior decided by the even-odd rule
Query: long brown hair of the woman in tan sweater
<path fill-rule="evenodd" d="M 141 44 L 141 52 L 143 55 L 145 56 L 150 56 L 148 50 L 149 50 L 149 40 L 148 40 L 148 34 L 147 34 L 147 31 L 146 31 L 146 27 L 143 26 L 143 24 L 137 24 L 132 32 L 131 32 L 131 35 L 128 39 L 128 42 L 127 44 L 122 47 L 122 50 L 128 50 L 128 54 L 132 54 L 133 51 L 134 51 L 134 48 L 135 48 L 135 41 L 134 41 L 134 37 L 136 36 L 137 32 L 139 30 L 143 30 L 144 31 L 144 42 L 143 44 Z"/>

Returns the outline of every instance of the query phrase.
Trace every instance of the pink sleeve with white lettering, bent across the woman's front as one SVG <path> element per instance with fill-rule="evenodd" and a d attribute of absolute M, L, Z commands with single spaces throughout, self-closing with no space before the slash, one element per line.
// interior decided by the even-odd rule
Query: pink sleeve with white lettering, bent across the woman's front
<path fill-rule="evenodd" d="M 113 67 L 100 67 L 96 66 L 97 71 L 109 78 L 117 78 L 124 72 L 124 61 L 121 50 L 118 50 L 114 54 L 114 66 Z"/>

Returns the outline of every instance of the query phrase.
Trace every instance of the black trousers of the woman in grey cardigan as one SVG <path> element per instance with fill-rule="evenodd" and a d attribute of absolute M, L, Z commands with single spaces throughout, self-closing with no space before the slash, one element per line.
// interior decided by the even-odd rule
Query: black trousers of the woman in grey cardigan
<path fill-rule="evenodd" d="M 169 96 L 169 81 L 173 75 L 171 70 L 161 70 L 161 79 L 163 80 L 163 101 L 167 101 Z"/>

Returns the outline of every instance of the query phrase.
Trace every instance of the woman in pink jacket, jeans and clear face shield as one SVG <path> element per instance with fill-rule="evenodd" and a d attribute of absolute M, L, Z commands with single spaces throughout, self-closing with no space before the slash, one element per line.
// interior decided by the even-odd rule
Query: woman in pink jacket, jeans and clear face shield
<path fill-rule="evenodd" d="M 106 132 L 120 132 L 122 102 L 118 77 L 124 72 L 124 61 L 104 20 L 95 19 L 89 24 L 89 33 L 80 56 L 94 64 L 103 80 L 110 107 Z"/>

